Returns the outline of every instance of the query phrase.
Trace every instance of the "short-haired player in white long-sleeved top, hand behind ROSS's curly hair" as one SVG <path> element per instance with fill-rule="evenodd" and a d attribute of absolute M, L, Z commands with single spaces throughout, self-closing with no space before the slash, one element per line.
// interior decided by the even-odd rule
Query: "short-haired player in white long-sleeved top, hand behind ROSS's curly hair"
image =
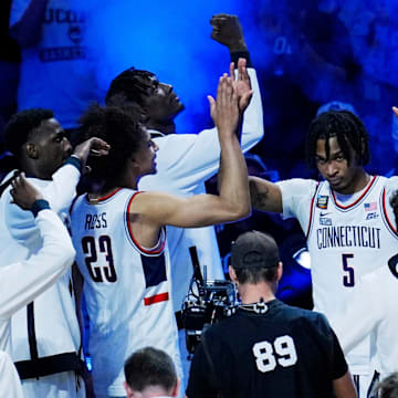
<path fill-rule="evenodd" d="M 51 209 L 67 213 L 81 170 L 92 149 L 107 153 L 106 144 L 92 138 L 74 150 L 60 123 L 49 109 L 27 109 L 11 117 L 6 145 Z M 13 171 L 3 179 L 0 198 L 0 266 L 36 254 L 42 238 L 31 212 L 11 203 Z M 23 394 L 30 397 L 84 396 L 76 377 L 82 368 L 80 329 L 71 293 L 70 272 L 12 316 L 12 353 Z"/>

